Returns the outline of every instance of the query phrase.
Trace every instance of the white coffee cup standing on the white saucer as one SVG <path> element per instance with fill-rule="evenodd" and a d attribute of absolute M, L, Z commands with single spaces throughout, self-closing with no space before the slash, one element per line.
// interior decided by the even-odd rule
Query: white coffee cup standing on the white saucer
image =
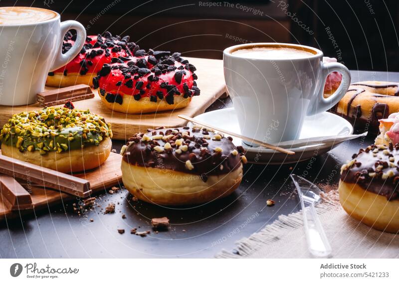
<path fill-rule="evenodd" d="M 270 53 L 262 53 L 258 48 Z M 300 54 L 285 54 L 278 48 L 296 49 Z M 269 143 L 297 139 L 304 118 L 338 103 L 351 81 L 343 64 L 323 63 L 322 51 L 298 44 L 231 46 L 223 51 L 223 65 L 241 134 Z M 326 78 L 335 71 L 342 74 L 341 85 L 329 98 L 324 98 Z"/>

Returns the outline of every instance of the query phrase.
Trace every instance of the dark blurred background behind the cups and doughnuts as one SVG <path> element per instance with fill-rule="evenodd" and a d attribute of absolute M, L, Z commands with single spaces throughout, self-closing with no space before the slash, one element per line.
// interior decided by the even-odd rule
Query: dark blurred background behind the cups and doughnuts
<path fill-rule="evenodd" d="M 204 7 L 202 3 L 220 3 Z M 288 4 L 283 10 L 284 2 Z M 342 57 L 350 69 L 398 71 L 397 0 L 40 0 L 0 1 L 53 9 L 61 20 L 76 19 L 88 34 L 105 30 L 130 35 L 142 48 L 180 51 L 185 56 L 219 58 L 222 50 L 252 42 L 301 43 Z M 258 9 L 245 11 L 236 4 Z M 289 17 L 288 15 L 291 15 Z M 294 16 L 292 16 L 294 14 Z M 296 22 L 301 21 L 309 31 Z M 331 34 L 328 34 L 329 28 Z M 231 37 L 230 37 L 231 36 Z M 334 36 L 336 45 L 333 45 Z"/>

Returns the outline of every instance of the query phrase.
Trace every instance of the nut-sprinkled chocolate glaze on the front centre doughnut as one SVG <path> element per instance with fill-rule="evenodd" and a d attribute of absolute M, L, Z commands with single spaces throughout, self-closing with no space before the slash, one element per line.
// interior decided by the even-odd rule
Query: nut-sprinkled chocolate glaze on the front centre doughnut
<path fill-rule="evenodd" d="M 240 150 L 223 134 L 194 128 L 156 129 L 129 139 L 123 160 L 138 166 L 207 176 L 238 169 Z"/>

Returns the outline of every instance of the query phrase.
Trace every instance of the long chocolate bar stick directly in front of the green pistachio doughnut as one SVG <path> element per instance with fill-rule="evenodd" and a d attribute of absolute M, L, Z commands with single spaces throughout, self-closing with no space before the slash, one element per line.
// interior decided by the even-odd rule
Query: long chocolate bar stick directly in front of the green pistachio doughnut
<path fill-rule="evenodd" d="M 48 187 L 79 197 L 87 197 L 91 193 L 89 181 L 74 177 L 35 164 L 24 162 L 0 154 L 0 173 L 30 180 L 43 187 Z"/>

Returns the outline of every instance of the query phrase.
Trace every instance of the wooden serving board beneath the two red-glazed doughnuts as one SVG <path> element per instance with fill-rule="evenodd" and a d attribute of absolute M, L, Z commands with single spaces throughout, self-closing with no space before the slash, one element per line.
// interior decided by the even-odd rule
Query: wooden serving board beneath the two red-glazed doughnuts
<path fill-rule="evenodd" d="M 205 111 L 216 99 L 225 94 L 226 88 L 223 77 L 222 60 L 187 58 L 197 68 L 198 87 L 201 90 L 200 96 L 193 97 L 190 105 L 176 111 L 164 111 L 158 113 L 133 115 L 112 111 L 106 108 L 97 90 L 94 90 L 95 97 L 87 100 L 75 101 L 73 105 L 78 109 L 90 109 L 92 113 L 100 115 L 112 124 L 113 139 L 127 140 L 133 133 L 145 131 L 155 127 L 182 127 L 186 121 L 178 118 L 179 114 L 195 117 Z M 46 88 L 53 89 L 53 88 Z M 0 106 L 0 127 L 2 127 L 12 114 L 23 111 L 40 109 L 38 103 L 27 106 Z"/>

